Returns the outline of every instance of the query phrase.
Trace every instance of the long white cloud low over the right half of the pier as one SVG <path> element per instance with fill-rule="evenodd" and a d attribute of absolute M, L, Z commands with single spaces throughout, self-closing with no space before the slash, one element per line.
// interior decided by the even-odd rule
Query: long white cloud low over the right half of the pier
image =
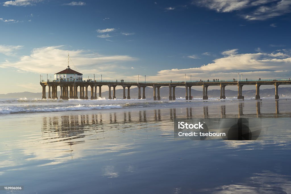
<path fill-rule="evenodd" d="M 274 53 L 246 54 L 238 54 L 235 51 L 231 55 L 217 58 L 212 63 L 200 67 L 161 70 L 156 75 L 147 76 L 147 79 L 148 81 L 168 81 L 171 79 L 183 81 L 185 74 L 187 76 L 191 74 L 192 80 L 202 79 L 206 81 L 213 78 L 232 80 L 237 77 L 237 72 L 243 73 L 244 78 L 248 79 L 257 79 L 258 77 L 262 79 L 289 78 L 291 57 L 284 54 L 283 50 Z"/>

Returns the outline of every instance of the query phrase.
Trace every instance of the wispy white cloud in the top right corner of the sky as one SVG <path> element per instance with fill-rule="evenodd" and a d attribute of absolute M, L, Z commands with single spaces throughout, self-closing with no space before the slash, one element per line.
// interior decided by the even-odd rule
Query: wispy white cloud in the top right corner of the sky
<path fill-rule="evenodd" d="M 192 4 L 219 13 L 241 11 L 240 15 L 247 20 L 265 20 L 291 12 L 288 0 L 195 0 Z"/>

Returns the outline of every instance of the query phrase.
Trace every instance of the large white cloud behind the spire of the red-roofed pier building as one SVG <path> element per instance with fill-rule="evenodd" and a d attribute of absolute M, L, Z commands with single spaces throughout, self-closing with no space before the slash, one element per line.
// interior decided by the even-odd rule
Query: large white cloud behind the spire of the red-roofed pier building
<path fill-rule="evenodd" d="M 35 73 L 56 73 L 65 69 L 67 66 L 64 59 L 70 53 L 74 65 L 81 73 L 108 72 L 112 75 L 112 69 L 126 69 L 128 67 L 120 66 L 125 61 L 137 60 L 127 55 L 101 55 L 87 50 L 67 50 L 64 46 L 52 46 L 36 48 L 31 51 L 30 55 L 21 56 L 17 61 L 6 60 L 0 63 L 2 68 L 16 68 L 25 72 Z"/>

